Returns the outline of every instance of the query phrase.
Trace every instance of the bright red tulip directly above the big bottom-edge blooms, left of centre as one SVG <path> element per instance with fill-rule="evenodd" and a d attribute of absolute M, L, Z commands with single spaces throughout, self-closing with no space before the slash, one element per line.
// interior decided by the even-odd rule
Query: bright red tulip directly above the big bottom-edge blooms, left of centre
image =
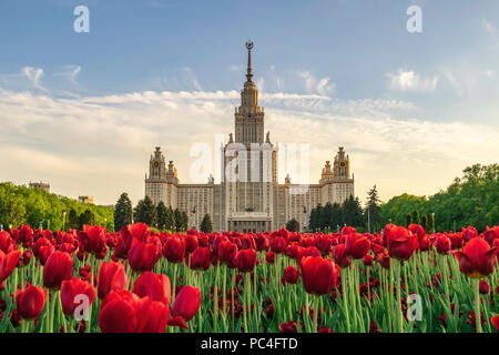
<path fill-rule="evenodd" d="M 132 292 L 140 297 L 149 296 L 152 301 L 170 304 L 172 286 L 169 276 L 146 271 L 135 280 Z"/>

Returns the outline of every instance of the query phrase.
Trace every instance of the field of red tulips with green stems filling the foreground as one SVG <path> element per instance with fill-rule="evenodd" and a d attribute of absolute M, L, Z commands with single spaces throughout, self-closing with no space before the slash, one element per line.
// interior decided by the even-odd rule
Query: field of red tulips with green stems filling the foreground
<path fill-rule="evenodd" d="M 0 333 L 496 333 L 499 226 L 0 231 Z"/>

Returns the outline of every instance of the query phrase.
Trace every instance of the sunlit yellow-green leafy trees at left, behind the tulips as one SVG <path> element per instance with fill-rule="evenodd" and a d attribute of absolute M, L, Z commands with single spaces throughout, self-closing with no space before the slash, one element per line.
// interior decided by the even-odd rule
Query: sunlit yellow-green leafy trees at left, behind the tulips
<path fill-rule="evenodd" d="M 113 230 L 111 207 L 84 204 L 42 189 L 0 183 L 0 224 L 4 230 L 29 224 L 52 231 L 81 229 L 83 224 L 105 225 Z"/>

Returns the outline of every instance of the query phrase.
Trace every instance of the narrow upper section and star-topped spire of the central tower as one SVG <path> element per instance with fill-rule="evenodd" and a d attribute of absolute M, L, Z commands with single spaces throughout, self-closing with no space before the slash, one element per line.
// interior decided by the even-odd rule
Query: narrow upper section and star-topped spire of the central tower
<path fill-rule="evenodd" d="M 258 91 L 253 81 L 253 42 L 246 42 L 247 70 L 246 82 L 241 90 L 241 105 L 235 111 L 235 142 L 249 148 L 251 143 L 264 142 L 264 110 L 258 106 Z"/>

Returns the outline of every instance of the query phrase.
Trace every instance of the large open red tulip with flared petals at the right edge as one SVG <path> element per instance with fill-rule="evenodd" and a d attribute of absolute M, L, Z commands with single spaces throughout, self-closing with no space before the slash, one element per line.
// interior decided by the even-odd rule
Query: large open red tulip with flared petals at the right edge
<path fill-rule="evenodd" d="M 455 252 L 461 273 L 472 278 L 483 278 L 493 272 L 498 248 L 490 247 L 481 237 L 473 237 L 462 252 Z"/>

